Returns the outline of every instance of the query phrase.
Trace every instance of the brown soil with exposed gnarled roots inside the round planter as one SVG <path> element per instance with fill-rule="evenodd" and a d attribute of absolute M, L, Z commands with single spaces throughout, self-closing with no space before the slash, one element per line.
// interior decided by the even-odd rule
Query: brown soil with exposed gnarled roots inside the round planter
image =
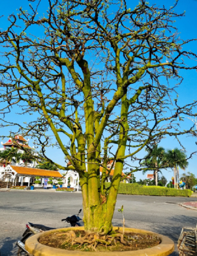
<path fill-rule="evenodd" d="M 55 232 L 43 235 L 39 243 L 49 247 L 80 250 L 80 251 L 130 251 L 147 249 L 161 243 L 157 235 L 140 233 L 123 233 L 119 230 L 112 231 L 109 235 L 86 233 L 81 230 Z"/>

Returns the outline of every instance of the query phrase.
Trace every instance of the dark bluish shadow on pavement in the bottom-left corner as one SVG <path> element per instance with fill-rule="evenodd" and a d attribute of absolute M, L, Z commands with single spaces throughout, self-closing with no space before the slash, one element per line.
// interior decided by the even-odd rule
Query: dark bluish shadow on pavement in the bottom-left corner
<path fill-rule="evenodd" d="M 18 247 L 16 245 L 17 240 L 11 239 L 11 237 L 5 237 L 0 241 L 1 256 L 13 256 L 17 254 Z"/>

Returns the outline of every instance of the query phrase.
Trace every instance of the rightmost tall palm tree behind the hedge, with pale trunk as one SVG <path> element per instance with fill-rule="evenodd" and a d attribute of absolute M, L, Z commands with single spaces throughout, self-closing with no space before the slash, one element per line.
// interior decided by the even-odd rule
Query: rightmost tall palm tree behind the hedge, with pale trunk
<path fill-rule="evenodd" d="M 174 168 L 174 183 L 177 184 L 178 189 L 178 181 L 179 181 L 179 170 L 178 167 L 185 170 L 188 166 L 187 155 L 185 152 L 181 151 L 178 148 L 168 149 L 166 156 L 166 162 L 169 164 L 169 167 Z"/>

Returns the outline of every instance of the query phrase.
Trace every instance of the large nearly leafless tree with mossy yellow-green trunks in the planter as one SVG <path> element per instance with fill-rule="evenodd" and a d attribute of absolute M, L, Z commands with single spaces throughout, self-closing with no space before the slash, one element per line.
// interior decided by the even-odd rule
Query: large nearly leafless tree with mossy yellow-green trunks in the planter
<path fill-rule="evenodd" d="M 184 16 L 174 11 L 178 1 L 168 9 L 145 1 L 130 9 L 125 0 L 48 0 L 43 17 L 40 0 L 31 2 L 0 31 L 2 122 L 35 138 L 39 159 L 79 173 L 85 230 L 107 234 L 126 159 L 132 172 L 144 170 L 141 159 L 136 164 L 139 151 L 165 135 L 195 134 L 193 127 L 182 131 L 178 119 L 192 115 L 197 102 L 180 106 L 170 98 L 182 81 L 179 71 L 196 69 L 188 65 L 197 57 L 187 51 L 193 40 L 181 40 L 173 24 Z M 32 121 L 6 120 L 15 105 Z M 49 159 L 50 146 L 71 164 Z M 110 160 L 114 174 L 106 190 Z"/>

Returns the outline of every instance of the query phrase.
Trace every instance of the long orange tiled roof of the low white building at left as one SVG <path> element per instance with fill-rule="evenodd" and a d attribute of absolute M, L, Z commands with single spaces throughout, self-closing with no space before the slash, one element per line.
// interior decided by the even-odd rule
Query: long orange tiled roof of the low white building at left
<path fill-rule="evenodd" d="M 28 167 L 20 167 L 20 166 L 13 166 L 13 165 L 11 165 L 11 168 L 13 170 L 15 170 L 18 174 L 44 176 L 44 177 L 56 177 L 56 178 L 63 177 L 57 171 L 43 170 L 43 169 L 37 169 L 37 168 L 28 168 Z"/>

